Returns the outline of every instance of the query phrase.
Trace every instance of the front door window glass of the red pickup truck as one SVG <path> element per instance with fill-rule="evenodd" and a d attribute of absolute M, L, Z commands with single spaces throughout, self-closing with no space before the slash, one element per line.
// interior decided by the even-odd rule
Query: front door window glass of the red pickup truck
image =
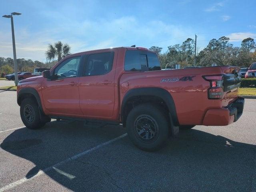
<path fill-rule="evenodd" d="M 80 63 L 81 57 L 73 57 L 62 62 L 55 70 L 54 74 L 58 79 L 66 77 L 76 77 L 78 66 Z"/>

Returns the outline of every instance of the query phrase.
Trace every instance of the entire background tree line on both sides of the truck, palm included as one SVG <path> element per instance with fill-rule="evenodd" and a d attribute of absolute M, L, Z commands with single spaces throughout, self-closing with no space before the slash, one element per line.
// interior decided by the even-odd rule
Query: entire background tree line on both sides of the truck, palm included
<path fill-rule="evenodd" d="M 196 66 L 216 64 L 217 66 L 248 67 L 252 62 L 256 62 L 256 44 L 253 38 L 242 40 L 240 47 L 234 46 L 229 41 L 230 39 L 226 36 L 210 40 L 208 45 L 196 54 Z M 68 44 L 63 44 L 60 41 L 48 44 L 48 49 L 45 52 L 46 58 L 49 60 L 47 64 L 38 60 L 19 58 L 17 59 L 18 71 L 33 72 L 34 68 L 52 67 L 57 61 L 70 54 L 70 49 Z M 164 53 L 162 53 L 162 49 L 158 46 L 149 48 L 158 54 L 162 68 L 175 68 L 176 64 L 180 64 L 180 68 L 194 65 L 195 41 L 193 39 L 188 38 L 182 44 L 168 46 L 168 50 Z M 0 74 L 2 72 L 6 74 L 14 72 L 12 58 L 0 57 Z"/>

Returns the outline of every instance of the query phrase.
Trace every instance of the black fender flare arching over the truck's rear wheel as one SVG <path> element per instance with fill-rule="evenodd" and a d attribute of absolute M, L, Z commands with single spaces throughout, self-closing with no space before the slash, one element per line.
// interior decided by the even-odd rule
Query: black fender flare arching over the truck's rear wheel
<path fill-rule="evenodd" d="M 168 110 L 170 112 L 170 116 L 172 117 L 172 121 L 173 121 L 174 125 L 175 126 L 179 125 L 176 107 L 175 107 L 175 103 L 172 98 L 172 95 L 167 90 L 162 89 L 162 88 L 157 88 L 157 87 L 134 88 L 134 89 L 129 90 L 125 94 L 125 96 L 122 100 L 121 119 L 123 119 L 124 109 L 125 109 L 127 101 L 131 97 L 134 97 L 134 96 L 156 96 L 156 97 L 161 98 L 166 103 L 166 105 L 168 107 Z"/>

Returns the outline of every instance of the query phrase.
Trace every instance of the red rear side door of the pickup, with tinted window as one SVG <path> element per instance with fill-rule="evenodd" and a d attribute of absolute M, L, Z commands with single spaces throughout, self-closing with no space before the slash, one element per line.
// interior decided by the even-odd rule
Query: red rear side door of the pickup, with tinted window
<path fill-rule="evenodd" d="M 80 108 L 86 117 L 110 118 L 113 115 L 117 52 L 96 51 L 86 55 L 78 85 Z"/>

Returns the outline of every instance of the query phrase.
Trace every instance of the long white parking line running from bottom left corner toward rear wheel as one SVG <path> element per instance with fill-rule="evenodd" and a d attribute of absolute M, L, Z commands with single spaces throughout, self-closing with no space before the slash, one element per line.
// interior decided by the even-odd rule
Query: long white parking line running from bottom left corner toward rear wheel
<path fill-rule="evenodd" d="M 15 181 L 15 182 L 13 182 L 13 183 L 10 183 L 10 184 L 8 184 L 8 185 L 6 185 L 6 186 L 0 188 L 0 192 L 3 192 L 3 191 L 5 191 L 5 190 L 9 190 L 9 189 L 11 189 L 11 188 L 14 188 L 14 187 L 16 187 L 16 186 L 18 186 L 18 185 L 24 183 L 24 182 L 27 182 L 27 181 L 29 181 L 29 180 L 32 180 L 33 178 L 38 177 L 38 176 L 44 174 L 44 172 L 48 172 L 48 171 L 50 171 L 50 170 L 52 170 L 52 169 L 55 169 L 56 167 L 61 166 L 61 165 L 65 164 L 65 163 L 67 163 L 67 162 L 70 162 L 70 161 L 72 161 L 72 160 L 76 160 L 76 159 L 78 159 L 79 157 L 81 157 L 81 156 L 83 156 L 83 155 L 85 155 L 85 154 L 88 154 L 88 153 L 90 153 L 90 152 L 92 152 L 92 151 L 95 151 L 95 150 L 97 150 L 97 149 L 99 149 L 99 148 L 102 148 L 103 146 L 108 145 L 108 144 L 110 144 L 110 143 L 112 143 L 112 142 L 115 142 L 115 141 L 117 141 L 117 140 L 119 140 L 119 139 L 121 139 L 121 138 L 124 138 L 125 136 L 127 136 L 127 133 L 122 134 L 121 136 L 116 137 L 116 138 L 114 138 L 114 139 L 112 139 L 112 140 L 109 140 L 109 141 L 107 141 L 107 142 L 104 142 L 104 143 L 102 143 L 102 144 L 100 144 L 100 145 L 97 145 L 97 146 L 95 146 L 95 147 L 93 147 L 93 148 L 90 148 L 90 149 L 88 149 L 88 150 L 86 150 L 86 151 L 84 151 L 84 152 L 82 152 L 82 153 L 79 153 L 79 154 L 77 154 L 77 155 L 75 155 L 75 156 L 72 156 L 72 157 L 70 157 L 70 158 L 67 158 L 67 159 L 65 159 L 65 160 L 63 160 L 63 161 L 61 161 L 61 162 L 59 162 L 59 163 L 57 163 L 57 164 L 55 164 L 55 165 L 53 165 L 53 166 L 50 166 L 50 167 L 48 167 L 48 168 L 45 168 L 44 170 L 40 170 L 40 171 L 39 171 L 36 175 L 34 175 L 34 176 L 28 176 L 28 178 L 22 178 L 22 179 L 20 179 L 20 180 L 18 180 L 18 181 Z"/>

